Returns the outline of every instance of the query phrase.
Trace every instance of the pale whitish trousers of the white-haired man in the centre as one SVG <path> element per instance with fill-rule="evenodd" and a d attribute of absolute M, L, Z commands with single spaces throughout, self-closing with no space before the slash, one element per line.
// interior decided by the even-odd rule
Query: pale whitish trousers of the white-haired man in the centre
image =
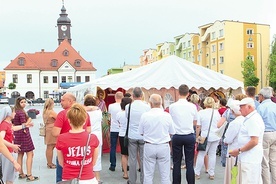
<path fill-rule="evenodd" d="M 152 184 L 157 163 L 161 184 L 169 184 L 170 180 L 170 146 L 165 144 L 149 144 L 144 145 L 144 184 Z"/>

